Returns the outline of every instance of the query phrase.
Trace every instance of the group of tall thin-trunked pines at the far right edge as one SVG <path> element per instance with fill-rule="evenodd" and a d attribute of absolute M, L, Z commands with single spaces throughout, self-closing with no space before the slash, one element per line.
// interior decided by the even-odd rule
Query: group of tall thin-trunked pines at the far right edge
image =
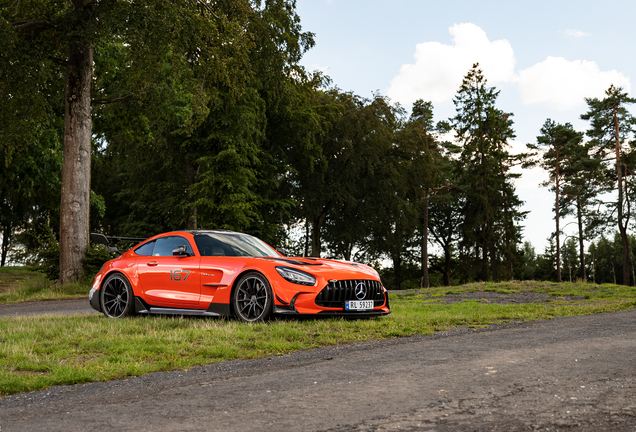
<path fill-rule="evenodd" d="M 635 198 L 633 173 L 636 167 L 636 153 L 632 152 L 636 119 L 628 106 L 634 102 L 636 99 L 630 98 L 622 88 L 611 85 L 604 98 L 586 98 L 588 110 L 580 117 L 589 121 L 585 133 L 576 131 L 570 123 L 559 124 L 548 119 L 537 142 L 528 145 L 535 156 L 532 163 L 548 172 L 549 180 L 544 186 L 548 186 L 555 197 L 555 231 L 544 254 L 554 272 L 543 277 L 557 282 L 564 279 L 563 257 L 566 253 L 572 256 L 576 243 L 576 278 L 597 280 L 598 277 L 601 282 L 634 283 L 630 246 L 633 238 L 628 232 L 631 203 Z M 574 217 L 576 230 L 574 235 L 561 241 L 560 222 L 567 215 Z M 620 262 L 612 262 L 611 278 L 607 269 L 598 268 L 600 262 L 614 255 L 598 254 L 599 249 L 607 250 L 608 231 L 609 237 L 612 232 L 617 233 L 612 241 L 620 239 L 621 250 Z M 585 242 L 591 242 L 587 254 Z M 562 251 L 562 245 L 567 249 Z M 570 260 L 570 277 L 572 267 Z"/>

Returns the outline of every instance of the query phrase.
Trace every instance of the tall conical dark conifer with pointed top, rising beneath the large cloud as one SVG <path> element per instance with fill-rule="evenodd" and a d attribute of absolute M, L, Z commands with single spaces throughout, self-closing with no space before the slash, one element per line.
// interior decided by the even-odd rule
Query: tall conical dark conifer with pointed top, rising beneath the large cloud
<path fill-rule="evenodd" d="M 457 115 L 450 119 L 462 147 L 460 246 L 480 266 L 477 277 L 481 280 L 512 277 L 521 241 L 518 222 L 525 217 L 513 185 L 519 175 L 510 171 L 525 155 L 513 156 L 507 150 L 508 140 L 515 137 L 513 122 L 511 114 L 495 107 L 498 95 L 494 87 L 487 87 L 476 63 L 453 100 Z"/>

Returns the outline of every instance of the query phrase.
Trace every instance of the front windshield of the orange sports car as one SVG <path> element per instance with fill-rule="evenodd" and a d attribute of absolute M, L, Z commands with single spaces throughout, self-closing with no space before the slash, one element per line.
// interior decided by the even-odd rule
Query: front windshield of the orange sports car
<path fill-rule="evenodd" d="M 201 233 L 194 235 L 201 256 L 280 256 L 256 237 L 239 233 Z"/>

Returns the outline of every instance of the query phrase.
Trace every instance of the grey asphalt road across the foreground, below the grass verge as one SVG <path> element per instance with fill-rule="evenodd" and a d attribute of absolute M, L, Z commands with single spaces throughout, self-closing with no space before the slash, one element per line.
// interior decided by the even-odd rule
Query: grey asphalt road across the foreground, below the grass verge
<path fill-rule="evenodd" d="M 0 399 L 0 430 L 636 431 L 636 309 Z"/>

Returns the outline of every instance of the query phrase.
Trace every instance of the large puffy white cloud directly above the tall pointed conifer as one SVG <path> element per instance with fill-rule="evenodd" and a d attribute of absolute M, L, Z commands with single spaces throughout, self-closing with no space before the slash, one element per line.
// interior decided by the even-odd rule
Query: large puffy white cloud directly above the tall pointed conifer
<path fill-rule="evenodd" d="M 415 48 L 414 64 L 405 64 L 393 78 L 388 96 L 403 104 L 422 98 L 443 102 L 452 98 L 473 63 L 479 62 L 490 84 L 510 81 L 515 57 L 507 40 L 491 42 L 486 32 L 471 23 L 449 29 L 453 45 L 424 42 Z"/>

